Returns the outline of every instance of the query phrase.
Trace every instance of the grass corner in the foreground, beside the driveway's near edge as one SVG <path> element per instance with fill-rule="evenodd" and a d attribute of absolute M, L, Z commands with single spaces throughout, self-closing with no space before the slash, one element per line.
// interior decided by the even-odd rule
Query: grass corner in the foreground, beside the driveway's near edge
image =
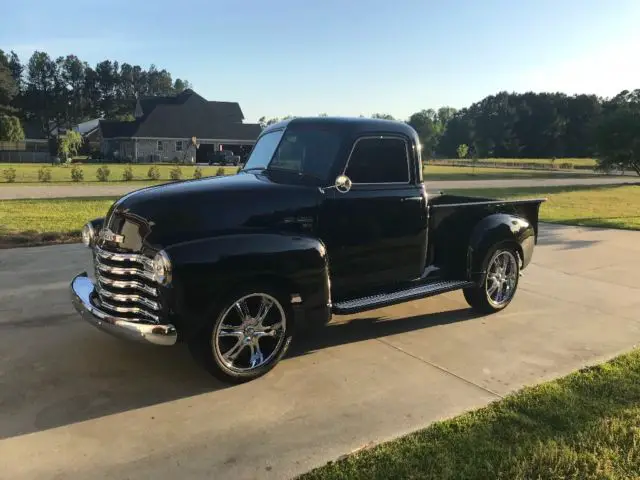
<path fill-rule="evenodd" d="M 300 477 L 605 479 L 640 474 L 640 351 Z"/>

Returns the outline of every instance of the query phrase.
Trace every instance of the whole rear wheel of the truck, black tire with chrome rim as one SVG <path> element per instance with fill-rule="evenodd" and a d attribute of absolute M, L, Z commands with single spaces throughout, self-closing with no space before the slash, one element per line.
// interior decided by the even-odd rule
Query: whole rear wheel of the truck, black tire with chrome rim
<path fill-rule="evenodd" d="M 520 261 L 511 246 L 490 250 L 483 262 L 484 275 L 478 286 L 465 288 L 467 303 L 480 313 L 496 313 L 511 303 L 518 289 Z"/>

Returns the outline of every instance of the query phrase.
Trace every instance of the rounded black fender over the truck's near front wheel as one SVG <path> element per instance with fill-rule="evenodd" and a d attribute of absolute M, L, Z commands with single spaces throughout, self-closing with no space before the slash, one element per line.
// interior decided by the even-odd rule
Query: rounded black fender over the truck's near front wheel
<path fill-rule="evenodd" d="M 173 306 L 182 321 L 207 321 L 216 301 L 248 282 L 277 282 L 300 297 L 297 310 L 326 315 L 330 303 L 324 244 L 287 234 L 237 234 L 166 248 L 173 268 Z"/>

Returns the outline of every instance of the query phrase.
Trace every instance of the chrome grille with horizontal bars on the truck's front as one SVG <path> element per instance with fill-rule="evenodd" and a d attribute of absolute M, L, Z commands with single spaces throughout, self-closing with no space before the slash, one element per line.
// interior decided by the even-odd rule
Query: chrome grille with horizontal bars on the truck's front
<path fill-rule="evenodd" d="M 153 281 L 151 259 L 94 247 L 97 302 L 102 310 L 128 321 L 158 323 L 162 304 Z"/>

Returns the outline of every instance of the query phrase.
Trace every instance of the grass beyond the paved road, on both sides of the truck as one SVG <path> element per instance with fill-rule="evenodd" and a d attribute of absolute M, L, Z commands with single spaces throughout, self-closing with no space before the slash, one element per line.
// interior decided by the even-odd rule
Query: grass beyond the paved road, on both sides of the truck
<path fill-rule="evenodd" d="M 100 164 L 85 164 L 80 165 L 84 173 L 84 180 L 82 182 L 74 183 L 71 180 L 71 167 L 66 166 L 51 166 L 48 164 L 0 164 L 0 185 L 3 186 L 22 186 L 22 185 L 43 185 L 38 181 L 38 170 L 41 167 L 47 167 L 51 170 L 51 184 L 75 184 L 75 185 L 104 185 L 105 182 L 99 182 L 96 177 L 96 171 L 101 166 Z M 128 182 L 122 181 L 122 173 L 127 165 L 124 164 L 109 164 L 108 167 L 111 170 L 109 181 L 106 182 L 109 185 L 115 184 L 128 184 Z M 169 164 L 158 164 L 160 170 L 160 180 L 168 181 L 170 179 L 169 172 L 174 167 Z M 16 170 L 15 183 L 8 183 L 2 175 L 2 172 L 9 167 Z M 133 182 L 144 186 L 147 184 L 158 183 L 152 182 L 147 177 L 150 165 L 131 165 L 133 170 Z M 203 176 L 214 176 L 218 171 L 218 166 L 202 166 Z M 237 167 L 223 167 L 225 175 L 233 174 L 237 171 Z M 180 166 L 184 179 L 193 178 L 193 172 L 195 167 L 193 166 Z M 517 168 L 490 168 L 490 167 L 449 167 L 441 165 L 428 165 L 425 167 L 425 175 L 429 180 L 492 180 L 502 178 L 575 178 L 583 177 L 585 175 L 592 174 L 580 174 L 578 172 L 562 172 L 554 173 L 545 170 L 524 170 Z"/>

